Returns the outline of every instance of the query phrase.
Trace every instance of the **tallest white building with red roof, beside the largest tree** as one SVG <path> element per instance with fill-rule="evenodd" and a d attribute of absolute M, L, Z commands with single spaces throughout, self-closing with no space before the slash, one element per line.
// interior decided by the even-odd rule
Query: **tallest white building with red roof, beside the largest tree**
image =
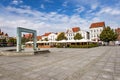
<path fill-rule="evenodd" d="M 90 26 L 90 40 L 99 41 L 100 34 L 105 28 L 104 22 L 92 23 Z"/>

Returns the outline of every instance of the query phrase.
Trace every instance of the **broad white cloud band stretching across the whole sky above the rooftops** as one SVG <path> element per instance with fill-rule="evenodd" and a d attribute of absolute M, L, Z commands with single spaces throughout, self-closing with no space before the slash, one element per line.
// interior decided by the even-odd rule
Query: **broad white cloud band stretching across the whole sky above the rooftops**
<path fill-rule="evenodd" d="M 4 31 L 6 30 L 9 35 L 14 36 L 16 35 L 16 27 L 18 26 L 37 30 L 38 35 L 41 35 L 45 32 L 65 31 L 67 28 L 74 26 L 78 26 L 82 30 L 88 30 L 91 23 L 98 21 L 105 21 L 108 25 L 111 23 L 110 26 L 114 25 L 118 27 L 118 25 L 120 25 L 120 23 L 117 22 L 120 17 L 108 16 L 108 12 L 111 11 L 111 9 L 105 11 L 101 9 L 101 11 L 98 12 L 99 15 L 95 15 L 96 17 L 91 18 L 82 18 L 78 14 L 68 16 L 58 14 L 57 12 L 44 13 L 32 10 L 31 8 L 15 8 L 8 6 L 2 9 L 4 12 L 3 15 L 0 15 L 0 26 L 2 26 L 1 28 Z M 17 15 L 13 12 L 17 13 Z M 118 13 L 119 12 L 117 12 L 117 14 Z M 116 13 L 113 11 L 112 14 Z M 32 15 L 32 17 L 29 15 Z"/>

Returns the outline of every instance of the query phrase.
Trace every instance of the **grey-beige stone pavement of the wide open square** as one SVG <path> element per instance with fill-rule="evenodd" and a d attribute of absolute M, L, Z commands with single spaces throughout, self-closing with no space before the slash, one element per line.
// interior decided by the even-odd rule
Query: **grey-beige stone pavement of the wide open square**
<path fill-rule="evenodd" d="M 0 80 L 120 80 L 120 46 L 0 56 Z"/>

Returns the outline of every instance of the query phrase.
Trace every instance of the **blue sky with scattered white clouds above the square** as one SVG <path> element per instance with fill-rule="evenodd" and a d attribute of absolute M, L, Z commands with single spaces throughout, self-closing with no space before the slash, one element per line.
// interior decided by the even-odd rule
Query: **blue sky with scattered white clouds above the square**
<path fill-rule="evenodd" d="M 0 0 L 0 29 L 16 36 L 16 28 L 65 32 L 72 27 L 89 30 L 91 23 L 104 21 L 120 27 L 120 0 Z"/>

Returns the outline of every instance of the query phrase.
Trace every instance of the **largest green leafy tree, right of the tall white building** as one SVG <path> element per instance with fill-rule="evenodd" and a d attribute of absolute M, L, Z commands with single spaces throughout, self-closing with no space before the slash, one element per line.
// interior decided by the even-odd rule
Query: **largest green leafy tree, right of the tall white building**
<path fill-rule="evenodd" d="M 104 42 L 115 41 L 117 39 L 117 34 L 109 26 L 105 27 L 100 34 L 100 40 Z"/>

